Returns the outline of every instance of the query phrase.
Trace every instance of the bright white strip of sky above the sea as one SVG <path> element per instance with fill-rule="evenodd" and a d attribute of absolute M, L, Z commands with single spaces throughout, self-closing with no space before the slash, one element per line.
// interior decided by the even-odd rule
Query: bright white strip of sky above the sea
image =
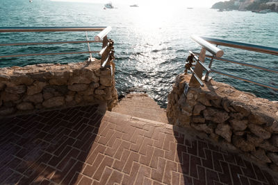
<path fill-rule="evenodd" d="M 147 5 L 149 3 L 163 4 L 164 6 L 185 6 L 185 7 L 206 7 L 211 8 L 213 3 L 216 3 L 221 0 L 51 0 L 51 1 L 75 1 L 75 2 L 86 2 L 86 3 L 108 3 L 108 1 L 112 1 L 113 4 L 138 4 Z"/>

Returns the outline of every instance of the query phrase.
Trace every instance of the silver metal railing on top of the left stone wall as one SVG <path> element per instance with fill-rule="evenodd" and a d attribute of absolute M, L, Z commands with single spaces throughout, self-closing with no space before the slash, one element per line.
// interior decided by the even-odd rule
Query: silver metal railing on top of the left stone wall
<path fill-rule="evenodd" d="M 52 26 L 52 27 L 1 27 L 0 33 L 15 33 L 15 32 L 77 32 L 85 31 L 85 36 L 87 40 L 74 40 L 74 41 L 54 41 L 54 42 L 18 42 L 18 43 L 0 43 L 0 46 L 24 46 L 24 45 L 39 45 L 39 44 L 80 44 L 87 43 L 89 51 L 74 51 L 74 52 L 60 52 L 60 53 L 28 53 L 28 54 L 15 54 L 15 55 L 0 55 L 0 58 L 15 58 L 15 57 L 24 57 L 24 56 L 34 56 L 34 55 L 67 55 L 67 54 L 82 54 L 89 53 L 90 61 L 92 61 L 92 53 L 99 53 L 100 51 L 90 51 L 90 44 L 94 42 L 107 42 L 107 34 L 111 31 L 111 26 Z M 87 31 L 101 31 L 95 40 L 89 40 Z M 104 47 L 101 51 L 108 49 Z M 110 53 L 108 53 L 110 55 Z M 108 57 L 109 59 L 109 57 Z M 104 61 L 101 60 L 101 63 Z M 107 63 L 107 61 L 106 61 Z M 110 63 L 109 63 L 110 64 Z"/>

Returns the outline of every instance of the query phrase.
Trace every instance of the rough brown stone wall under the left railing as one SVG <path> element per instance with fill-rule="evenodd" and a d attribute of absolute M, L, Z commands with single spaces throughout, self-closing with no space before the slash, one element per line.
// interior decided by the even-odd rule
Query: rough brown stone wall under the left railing
<path fill-rule="evenodd" d="M 101 69 L 99 60 L 1 68 L 0 116 L 98 101 L 112 109 L 117 102 L 114 71 L 111 76 L 111 69 Z"/>

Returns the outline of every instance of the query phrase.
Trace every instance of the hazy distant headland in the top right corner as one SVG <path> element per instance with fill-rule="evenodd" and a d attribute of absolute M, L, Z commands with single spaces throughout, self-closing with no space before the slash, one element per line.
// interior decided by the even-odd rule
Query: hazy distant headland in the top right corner
<path fill-rule="evenodd" d="M 221 10 L 270 10 L 278 12 L 278 0 L 230 0 L 213 4 L 213 9 Z"/>

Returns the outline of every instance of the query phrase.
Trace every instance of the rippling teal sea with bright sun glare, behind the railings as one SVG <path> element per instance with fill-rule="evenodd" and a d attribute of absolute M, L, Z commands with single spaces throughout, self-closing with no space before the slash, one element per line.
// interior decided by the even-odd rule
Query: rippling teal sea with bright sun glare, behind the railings
<path fill-rule="evenodd" d="M 116 5 L 117 6 L 117 5 Z M 278 14 L 252 12 L 217 12 L 211 9 L 186 7 L 118 5 L 104 10 L 102 4 L 67 3 L 47 0 L 0 1 L 0 26 L 112 26 L 108 37 L 115 41 L 116 87 L 119 94 L 129 89 L 147 91 L 162 107 L 174 78 L 184 71 L 188 50 L 200 47 L 190 35 L 249 42 L 278 48 Z M 93 39 L 96 33 L 89 33 Z M 49 42 L 84 40 L 85 33 L 1 33 L 2 42 Z M 92 45 L 99 50 L 100 44 Z M 278 69 L 278 57 L 238 49 L 224 49 L 223 58 L 250 62 Z M 36 46 L 0 46 L 0 55 L 15 53 L 51 53 L 85 51 L 86 44 L 56 44 Z M 97 58 L 98 56 L 95 55 Z M 45 62 L 81 62 L 88 55 L 49 55 L 24 58 L 1 58 L 0 67 L 24 66 Z M 208 62 L 208 61 L 206 61 Z M 278 86 L 277 73 L 213 62 L 213 69 L 259 80 Z M 211 74 L 215 80 L 226 82 L 256 96 L 278 100 L 278 92 L 240 80 Z"/>

